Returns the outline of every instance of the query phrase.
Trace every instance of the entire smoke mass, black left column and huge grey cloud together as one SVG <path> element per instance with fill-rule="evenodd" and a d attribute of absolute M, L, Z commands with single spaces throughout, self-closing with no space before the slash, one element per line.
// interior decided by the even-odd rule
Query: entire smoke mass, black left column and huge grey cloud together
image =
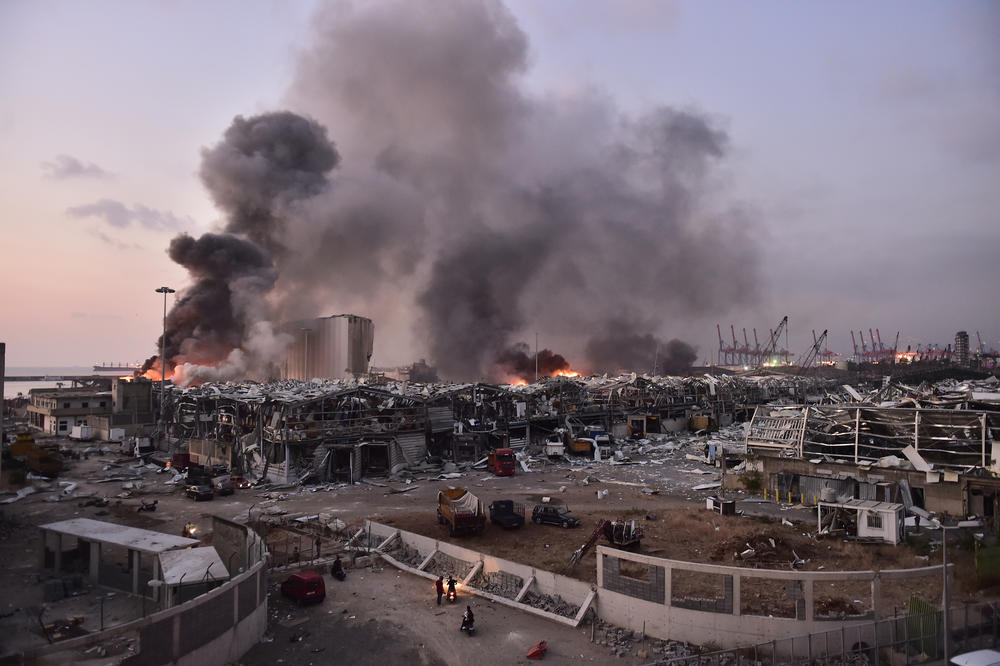
<path fill-rule="evenodd" d="M 490 375 L 534 332 L 574 364 L 663 373 L 693 360 L 661 342 L 670 322 L 756 298 L 753 221 L 720 185 L 716 119 L 529 92 L 527 37 L 491 0 L 338 2 L 313 26 L 296 113 L 237 117 L 203 153 L 219 235 L 263 261 L 185 264 L 174 355 L 253 356 L 256 321 L 354 312 L 378 323 L 376 358 L 427 354 L 445 379 Z"/>

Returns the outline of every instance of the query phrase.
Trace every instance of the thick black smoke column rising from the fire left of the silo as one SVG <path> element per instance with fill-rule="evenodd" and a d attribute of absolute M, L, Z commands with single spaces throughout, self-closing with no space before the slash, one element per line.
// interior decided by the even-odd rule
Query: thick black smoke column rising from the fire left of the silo
<path fill-rule="evenodd" d="M 289 112 L 237 116 L 203 151 L 202 180 L 228 217 L 225 233 L 170 242 L 170 258 L 193 280 L 166 322 L 165 354 L 180 381 L 238 377 L 281 358 L 288 340 L 270 324 L 268 295 L 280 264 L 294 260 L 285 220 L 323 191 L 338 159 L 322 126 Z"/>

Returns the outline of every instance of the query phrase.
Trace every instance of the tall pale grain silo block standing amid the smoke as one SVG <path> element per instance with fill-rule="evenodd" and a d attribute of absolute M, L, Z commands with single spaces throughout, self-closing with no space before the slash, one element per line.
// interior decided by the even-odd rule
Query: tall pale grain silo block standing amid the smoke
<path fill-rule="evenodd" d="M 294 338 L 282 379 L 348 379 L 368 372 L 375 342 L 371 319 L 331 315 L 287 322 L 281 330 Z"/>

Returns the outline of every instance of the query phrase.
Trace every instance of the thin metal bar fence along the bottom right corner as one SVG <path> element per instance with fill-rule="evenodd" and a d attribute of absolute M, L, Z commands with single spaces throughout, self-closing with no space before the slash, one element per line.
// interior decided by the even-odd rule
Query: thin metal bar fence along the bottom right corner
<path fill-rule="evenodd" d="M 951 609 L 949 654 L 1000 646 L 1000 604 Z M 944 658 L 942 612 L 910 612 L 743 648 L 704 652 L 647 666 L 784 666 L 785 664 L 900 664 Z"/>

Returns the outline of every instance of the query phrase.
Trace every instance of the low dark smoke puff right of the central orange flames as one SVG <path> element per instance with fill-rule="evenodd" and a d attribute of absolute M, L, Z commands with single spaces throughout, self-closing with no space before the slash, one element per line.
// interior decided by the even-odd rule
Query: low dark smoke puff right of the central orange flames
<path fill-rule="evenodd" d="M 681 340 L 664 342 L 627 331 L 591 338 L 586 353 L 596 373 L 682 375 L 698 358 L 695 348 Z"/>

